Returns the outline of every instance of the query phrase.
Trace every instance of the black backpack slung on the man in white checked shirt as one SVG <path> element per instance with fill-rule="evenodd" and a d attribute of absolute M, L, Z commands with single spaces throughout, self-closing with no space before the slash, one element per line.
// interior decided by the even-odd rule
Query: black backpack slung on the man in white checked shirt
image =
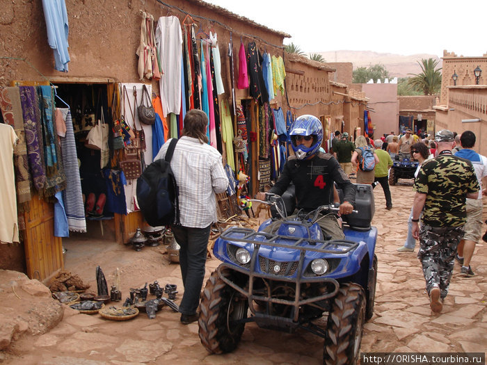
<path fill-rule="evenodd" d="M 177 139 L 170 141 L 166 158 L 159 159 L 145 168 L 137 179 L 137 201 L 142 215 L 152 227 L 179 225 L 179 189 L 170 160 L 173 158 Z"/>

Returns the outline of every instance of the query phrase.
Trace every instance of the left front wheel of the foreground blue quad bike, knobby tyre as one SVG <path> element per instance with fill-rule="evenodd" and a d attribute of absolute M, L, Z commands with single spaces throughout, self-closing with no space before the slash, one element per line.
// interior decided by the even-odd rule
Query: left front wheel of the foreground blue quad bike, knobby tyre
<path fill-rule="evenodd" d="M 231 277 L 230 270 L 223 270 L 222 274 Z M 211 273 L 200 302 L 198 332 L 202 345 L 213 354 L 237 348 L 245 323 L 235 321 L 247 318 L 247 310 L 247 300 L 225 284 L 217 271 Z"/>

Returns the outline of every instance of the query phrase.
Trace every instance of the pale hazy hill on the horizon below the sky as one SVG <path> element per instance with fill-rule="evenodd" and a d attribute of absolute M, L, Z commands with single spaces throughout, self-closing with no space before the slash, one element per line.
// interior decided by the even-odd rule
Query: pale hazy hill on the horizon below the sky
<path fill-rule="evenodd" d="M 380 63 L 384 65 L 392 77 L 410 77 L 408 74 L 418 74 L 421 72 L 417 61 L 422 58 L 433 58 L 438 60 L 438 67 L 441 67 L 442 60 L 434 54 L 411 54 L 403 56 L 401 54 L 381 54 L 373 51 L 326 51 L 313 52 L 321 54 L 326 62 L 351 62 L 353 70 L 358 67 L 368 67 Z"/>

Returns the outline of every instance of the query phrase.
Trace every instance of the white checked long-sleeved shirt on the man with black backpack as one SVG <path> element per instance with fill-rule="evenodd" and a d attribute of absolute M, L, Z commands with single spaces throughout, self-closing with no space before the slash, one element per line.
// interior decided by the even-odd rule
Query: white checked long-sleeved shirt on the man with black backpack
<path fill-rule="evenodd" d="M 166 156 L 170 140 L 155 157 Z M 179 187 L 179 221 L 184 227 L 205 228 L 216 222 L 215 193 L 223 193 L 228 178 L 220 152 L 198 138 L 182 136 L 174 150 L 170 167 Z"/>

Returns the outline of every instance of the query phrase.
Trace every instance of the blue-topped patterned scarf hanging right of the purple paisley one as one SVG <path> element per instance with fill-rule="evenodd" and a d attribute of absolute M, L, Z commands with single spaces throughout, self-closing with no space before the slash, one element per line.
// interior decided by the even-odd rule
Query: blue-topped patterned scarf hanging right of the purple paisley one
<path fill-rule="evenodd" d="M 46 184 L 45 191 L 41 196 L 54 197 L 54 195 L 66 188 L 66 176 L 64 174 L 63 163 L 58 156 L 61 156 L 58 138 L 54 133 L 53 99 L 54 92 L 51 86 L 38 86 L 41 123 L 44 135 L 44 152 L 46 163 Z"/>

